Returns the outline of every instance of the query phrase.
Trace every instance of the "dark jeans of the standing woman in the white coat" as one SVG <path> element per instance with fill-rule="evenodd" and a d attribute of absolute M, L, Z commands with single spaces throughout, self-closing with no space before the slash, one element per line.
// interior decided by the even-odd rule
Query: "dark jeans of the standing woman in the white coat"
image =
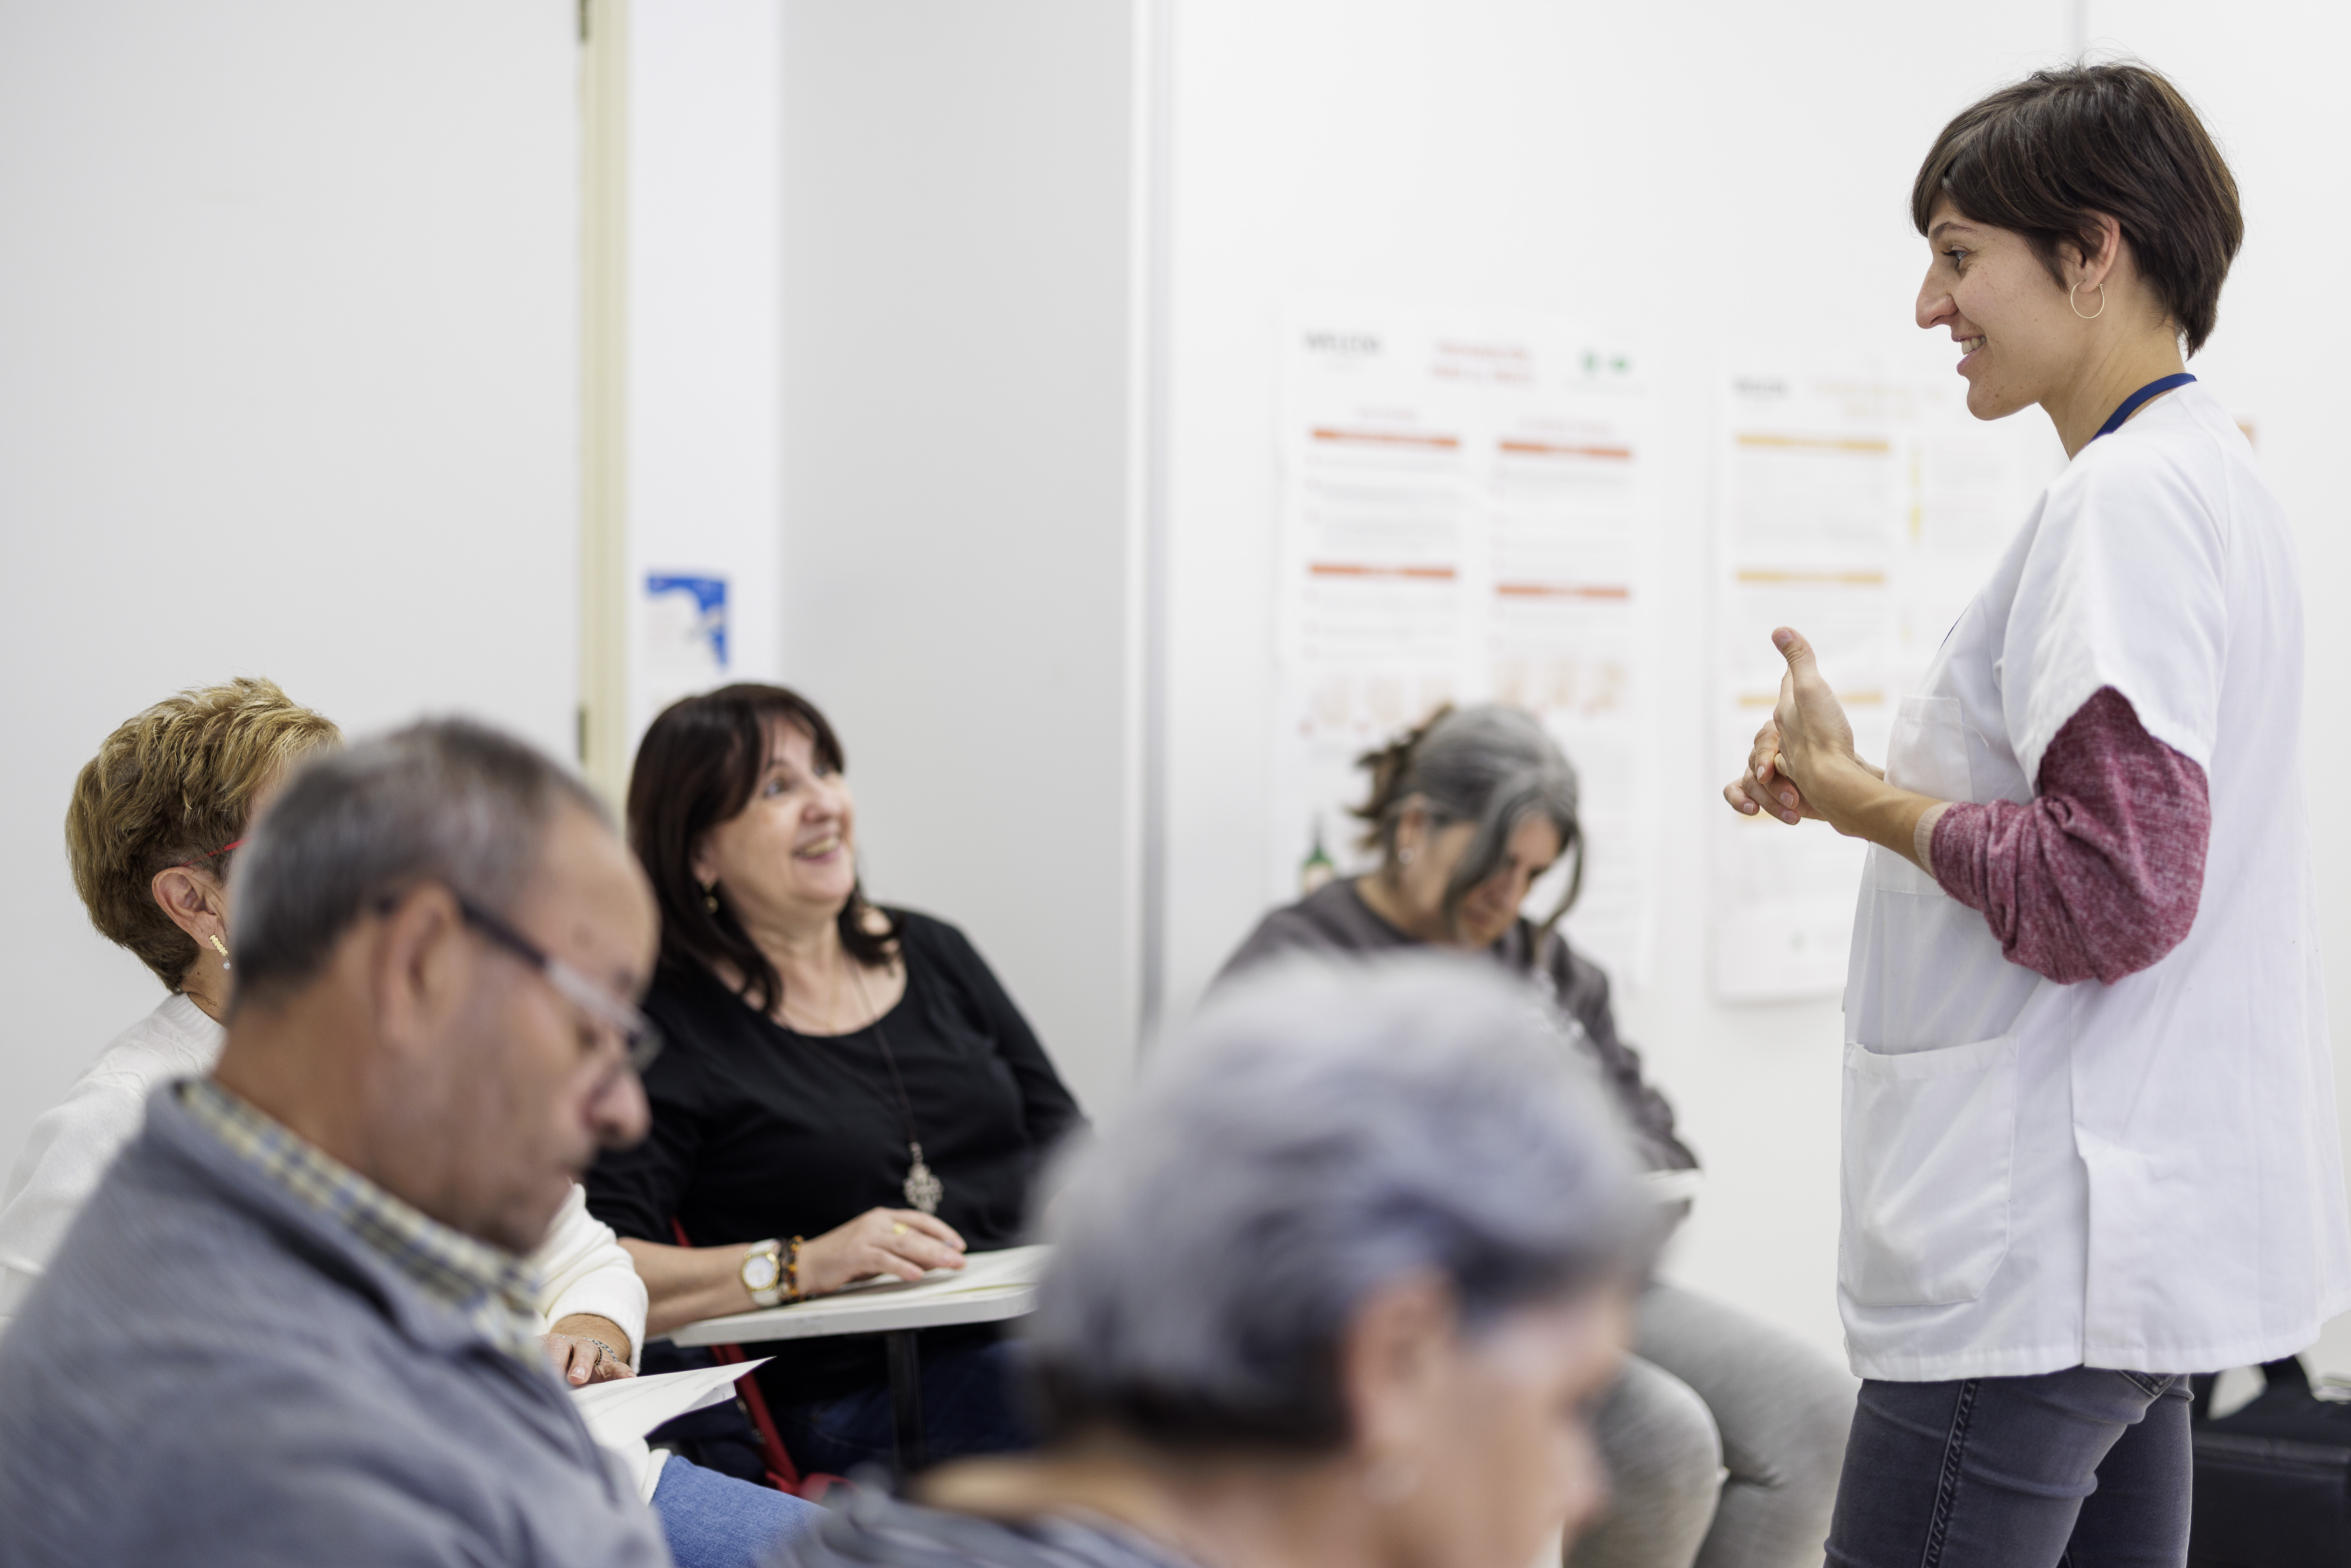
<path fill-rule="evenodd" d="M 2189 1380 L 1862 1382 L 1831 1568 L 2182 1568 Z"/>

